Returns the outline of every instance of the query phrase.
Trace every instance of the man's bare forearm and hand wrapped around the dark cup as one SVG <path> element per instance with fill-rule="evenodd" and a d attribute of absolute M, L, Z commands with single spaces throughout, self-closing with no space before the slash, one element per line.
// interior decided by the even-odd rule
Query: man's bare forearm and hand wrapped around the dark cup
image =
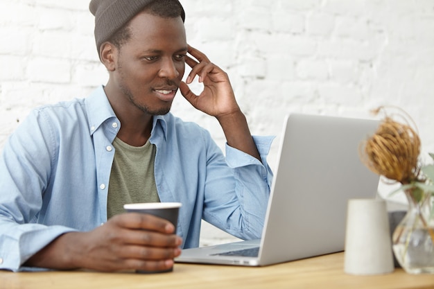
<path fill-rule="evenodd" d="M 180 255 L 175 227 L 154 216 L 125 213 L 89 232 L 70 232 L 33 255 L 28 267 L 99 271 L 167 270 Z"/>

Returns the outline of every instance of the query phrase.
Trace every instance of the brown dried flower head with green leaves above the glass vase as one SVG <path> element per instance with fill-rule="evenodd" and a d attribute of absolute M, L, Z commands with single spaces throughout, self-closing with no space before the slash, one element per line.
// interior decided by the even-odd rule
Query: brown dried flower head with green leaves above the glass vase
<path fill-rule="evenodd" d="M 385 118 L 374 135 L 361 144 L 361 160 L 374 173 L 401 183 L 398 191 L 410 193 L 419 202 L 424 193 L 434 194 L 434 165 L 423 166 L 419 159 L 421 141 L 416 128 L 409 123 L 411 117 L 400 109 L 401 114 L 390 115 L 386 108 L 373 111 L 383 112 Z M 397 121 L 398 118 L 403 122 Z M 434 159 L 434 154 L 429 155 Z"/>

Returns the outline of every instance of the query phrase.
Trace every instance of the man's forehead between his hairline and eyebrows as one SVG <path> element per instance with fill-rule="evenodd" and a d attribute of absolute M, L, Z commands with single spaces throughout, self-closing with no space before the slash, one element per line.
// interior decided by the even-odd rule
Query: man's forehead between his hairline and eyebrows
<path fill-rule="evenodd" d="M 166 18 L 140 12 L 130 21 L 130 44 L 142 47 L 159 45 L 186 46 L 184 22 L 181 17 Z"/>

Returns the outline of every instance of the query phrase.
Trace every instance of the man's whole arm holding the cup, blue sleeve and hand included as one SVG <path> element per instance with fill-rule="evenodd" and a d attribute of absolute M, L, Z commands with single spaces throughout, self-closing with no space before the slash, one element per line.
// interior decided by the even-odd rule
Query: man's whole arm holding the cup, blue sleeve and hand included
<path fill-rule="evenodd" d="M 98 208 L 75 202 L 83 198 L 79 190 L 89 181 L 83 177 L 83 186 L 71 186 L 70 174 L 55 173 L 56 165 L 65 163 L 56 158 L 55 140 L 60 136 L 55 135 L 52 123 L 48 114 L 33 112 L 11 135 L 0 157 L 0 269 L 170 268 L 173 256 L 180 254 L 177 246 L 181 240 L 167 221 L 125 214 L 101 227 L 93 225 L 98 221 L 93 211 Z M 83 163 L 78 155 L 73 157 Z M 74 174 L 83 170 L 78 163 L 73 166 L 77 168 Z M 92 169 L 88 173 L 92 174 Z M 60 184 L 54 186 L 49 182 L 53 179 Z M 94 182 L 88 184 L 92 185 Z M 88 192 L 94 193 L 92 189 Z M 75 198 L 68 199 L 71 195 Z M 65 213 L 65 202 L 70 206 L 73 202 L 76 209 Z M 80 232 L 78 228 L 82 228 Z"/>

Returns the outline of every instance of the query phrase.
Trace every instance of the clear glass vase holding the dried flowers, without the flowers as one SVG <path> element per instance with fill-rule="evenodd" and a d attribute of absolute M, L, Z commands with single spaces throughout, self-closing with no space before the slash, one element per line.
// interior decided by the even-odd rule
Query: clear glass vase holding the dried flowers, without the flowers
<path fill-rule="evenodd" d="M 434 274 L 434 218 L 431 194 L 416 200 L 406 191 L 408 211 L 392 236 L 392 248 L 399 265 L 410 274 Z"/>

